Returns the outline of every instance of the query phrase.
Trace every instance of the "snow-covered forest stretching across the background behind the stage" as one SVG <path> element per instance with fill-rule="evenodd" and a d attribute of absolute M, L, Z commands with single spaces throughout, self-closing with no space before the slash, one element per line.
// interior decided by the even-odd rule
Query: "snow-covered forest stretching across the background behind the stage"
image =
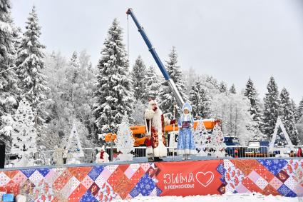
<path fill-rule="evenodd" d="M 70 56 L 46 51 L 47 44 L 39 41 L 43 33 L 35 7 L 25 19 L 24 33 L 14 24 L 10 9 L 9 1 L 0 0 L 0 140 L 7 151 L 32 138 L 36 142 L 31 147 L 63 147 L 73 123 L 83 147 L 100 146 L 98 135 L 115 133 L 125 113 L 131 124 L 144 124 L 150 96 L 157 97 L 164 113 L 173 114 L 175 101 L 158 69 L 140 56 L 129 64 L 117 19 L 108 25 L 100 60 L 93 66 L 85 50 Z M 280 116 L 292 143 L 302 143 L 303 99 L 295 103 L 273 76 L 260 98 L 251 78 L 246 86 L 227 86 L 215 76 L 179 66 L 175 47 L 165 66 L 183 99 L 192 104 L 193 116 L 219 118 L 225 136 L 237 136 L 242 145 L 270 141 Z"/>

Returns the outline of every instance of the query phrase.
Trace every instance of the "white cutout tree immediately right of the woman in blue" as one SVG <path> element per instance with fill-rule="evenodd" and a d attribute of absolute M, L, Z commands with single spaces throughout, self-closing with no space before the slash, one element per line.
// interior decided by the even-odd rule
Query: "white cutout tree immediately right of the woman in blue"
<path fill-rule="evenodd" d="M 207 148 L 209 148 L 209 136 L 203 121 L 198 121 L 197 128 L 194 132 L 195 147 L 197 148 L 197 156 L 207 156 Z"/>

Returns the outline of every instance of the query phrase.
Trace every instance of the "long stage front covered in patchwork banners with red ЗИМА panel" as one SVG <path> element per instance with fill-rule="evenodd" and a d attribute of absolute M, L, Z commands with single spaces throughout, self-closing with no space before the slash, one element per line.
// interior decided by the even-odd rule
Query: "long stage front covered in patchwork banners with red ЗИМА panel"
<path fill-rule="evenodd" d="M 31 201 L 111 201 L 140 196 L 252 193 L 303 196 L 302 158 L 180 156 L 148 163 L 90 163 L 0 170 L 0 191 Z"/>

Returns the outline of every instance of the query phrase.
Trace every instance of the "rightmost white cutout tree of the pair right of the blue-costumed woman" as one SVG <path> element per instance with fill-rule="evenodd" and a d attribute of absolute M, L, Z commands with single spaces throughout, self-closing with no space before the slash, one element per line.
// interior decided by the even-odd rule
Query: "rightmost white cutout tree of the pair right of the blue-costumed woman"
<path fill-rule="evenodd" d="M 216 157 L 225 157 L 225 148 L 224 136 L 219 124 L 215 125 L 215 128 L 212 130 L 212 145 L 215 149 Z"/>

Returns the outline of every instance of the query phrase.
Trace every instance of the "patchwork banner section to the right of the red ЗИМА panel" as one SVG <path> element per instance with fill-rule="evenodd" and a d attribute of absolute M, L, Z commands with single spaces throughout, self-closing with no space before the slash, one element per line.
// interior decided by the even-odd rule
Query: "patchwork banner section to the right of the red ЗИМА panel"
<path fill-rule="evenodd" d="M 303 196 L 303 161 L 262 158 L 224 160 L 227 193 Z"/>

